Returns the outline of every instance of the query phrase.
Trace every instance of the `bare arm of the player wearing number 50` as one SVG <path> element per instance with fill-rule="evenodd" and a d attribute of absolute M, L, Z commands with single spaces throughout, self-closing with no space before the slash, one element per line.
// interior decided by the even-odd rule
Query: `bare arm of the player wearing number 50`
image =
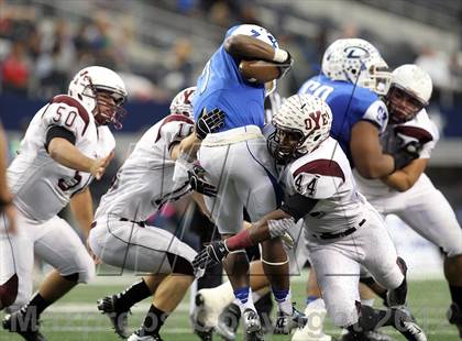
<path fill-rule="evenodd" d="M 85 156 L 75 145 L 65 139 L 53 139 L 48 144 L 48 154 L 58 164 L 79 172 L 90 173 L 94 158 Z"/>

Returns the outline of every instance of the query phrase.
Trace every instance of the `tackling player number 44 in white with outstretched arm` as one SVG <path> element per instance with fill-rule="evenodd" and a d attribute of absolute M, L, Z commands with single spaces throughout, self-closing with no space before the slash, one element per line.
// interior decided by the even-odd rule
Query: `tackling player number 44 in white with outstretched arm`
<path fill-rule="evenodd" d="M 329 136 L 332 113 L 311 95 L 289 97 L 273 119 L 268 147 L 282 165 L 283 206 L 226 240 L 212 242 L 196 256 L 201 268 L 221 262 L 233 250 L 279 235 L 304 219 L 307 248 L 333 323 L 352 333 L 393 326 L 407 340 L 427 340 L 405 307 L 406 264 L 396 254 L 377 211 L 355 190 L 350 163 Z M 388 311 L 362 306 L 361 265 L 389 289 Z"/>

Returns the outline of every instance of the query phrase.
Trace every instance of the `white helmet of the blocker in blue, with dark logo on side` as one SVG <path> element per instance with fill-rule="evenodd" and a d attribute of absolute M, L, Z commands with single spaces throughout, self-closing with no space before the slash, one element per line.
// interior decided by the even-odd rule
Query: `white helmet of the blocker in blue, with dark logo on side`
<path fill-rule="evenodd" d="M 392 75 L 377 48 L 361 38 L 334 41 L 322 57 L 322 73 L 333 80 L 344 80 L 378 95 L 388 91 Z"/>

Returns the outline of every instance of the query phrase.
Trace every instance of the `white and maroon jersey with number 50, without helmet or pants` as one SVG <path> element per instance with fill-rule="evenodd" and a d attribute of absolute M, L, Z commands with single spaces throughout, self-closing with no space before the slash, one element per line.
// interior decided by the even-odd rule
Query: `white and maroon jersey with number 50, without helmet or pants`
<path fill-rule="evenodd" d="M 116 146 L 107 127 L 97 127 L 94 116 L 76 99 L 59 95 L 35 113 L 18 156 L 8 168 L 8 183 L 14 205 L 28 218 L 44 222 L 56 216 L 92 180 L 89 173 L 77 172 L 55 162 L 45 150 L 50 128 L 62 127 L 72 132 L 75 146 L 91 158 L 107 156 Z"/>

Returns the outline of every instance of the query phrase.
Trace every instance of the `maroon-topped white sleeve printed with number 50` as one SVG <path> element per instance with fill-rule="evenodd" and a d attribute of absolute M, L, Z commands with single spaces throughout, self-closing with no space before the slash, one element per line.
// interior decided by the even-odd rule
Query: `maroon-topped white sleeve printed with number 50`
<path fill-rule="evenodd" d="M 70 96 L 56 96 L 42 114 L 42 122 L 46 132 L 53 127 L 61 127 L 69 131 L 78 143 L 85 135 L 90 117 L 87 110 Z"/>

